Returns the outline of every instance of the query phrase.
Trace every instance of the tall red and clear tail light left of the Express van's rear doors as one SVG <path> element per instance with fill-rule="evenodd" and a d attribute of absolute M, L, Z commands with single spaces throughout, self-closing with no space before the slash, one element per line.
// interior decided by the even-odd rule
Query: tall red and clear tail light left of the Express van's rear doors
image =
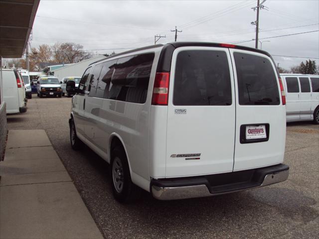
<path fill-rule="evenodd" d="M 167 106 L 168 104 L 169 72 L 159 72 L 155 75 L 152 105 Z"/>

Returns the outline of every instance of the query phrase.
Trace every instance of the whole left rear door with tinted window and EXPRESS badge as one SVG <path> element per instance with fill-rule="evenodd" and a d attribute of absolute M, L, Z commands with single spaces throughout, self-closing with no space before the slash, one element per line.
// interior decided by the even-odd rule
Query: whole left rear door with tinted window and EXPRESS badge
<path fill-rule="evenodd" d="M 228 48 L 179 47 L 172 55 L 166 177 L 231 172 L 234 78 Z"/>

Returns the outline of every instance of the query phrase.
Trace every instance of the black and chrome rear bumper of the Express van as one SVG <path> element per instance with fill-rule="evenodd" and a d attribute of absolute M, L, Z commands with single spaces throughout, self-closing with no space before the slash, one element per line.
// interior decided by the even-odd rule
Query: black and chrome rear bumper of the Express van
<path fill-rule="evenodd" d="M 151 192 L 159 200 L 207 197 L 264 187 L 288 179 L 289 166 L 274 166 L 184 178 L 152 179 Z"/>

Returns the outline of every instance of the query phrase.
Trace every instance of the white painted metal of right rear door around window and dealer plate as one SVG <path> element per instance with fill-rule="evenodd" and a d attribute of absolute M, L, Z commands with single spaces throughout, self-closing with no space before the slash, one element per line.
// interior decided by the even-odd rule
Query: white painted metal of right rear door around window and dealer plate
<path fill-rule="evenodd" d="M 236 139 L 235 139 L 235 153 L 234 153 L 234 171 L 265 167 L 275 165 L 283 162 L 285 153 L 285 139 L 286 139 L 286 111 L 285 106 L 282 105 L 281 97 L 278 105 L 240 105 L 238 94 L 238 77 L 239 72 L 237 62 L 234 58 L 234 53 L 244 53 L 252 56 L 261 57 L 264 62 L 271 64 L 272 72 L 260 72 L 259 77 L 272 76 L 277 82 L 278 96 L 280 96 L 280 85 L 276 73 L 275 65 L 270 57 L 257 52 L 243 51 L 237 49 L 230 49 L 234 76 L 236 94 Z M 258 58 L 259 59 L 259 58 Z M 236 63 L 235 63 L 236 62 Z M 254 63 L 253 63 L 254 64 Z M 257 63 L 256 63 L 257 64 Z M 250 69 L 247 68 L 247 76 Z M 271 73 L 271 74 L 270 74 Z M 266 75 L 269 74 L 269 75 Z M 264 80 L 267 80 L 266 77 Z M 249 87 L 247 85 L 247 87 Z M 274 89 L 276 91 L 276 87 Z M 253 92 L 251 92 L 253 94 Z M 266 103 L 265 103 L 266 104 Z M 267 141 L 242 143 L 241 142 L 241 127 L 242 125 L 267 125 L 269 124 L 269 135 Z M 267 131 L 267 130 L 266 130 Z M 245 132 L 245 131 L 244 131 Z"/>

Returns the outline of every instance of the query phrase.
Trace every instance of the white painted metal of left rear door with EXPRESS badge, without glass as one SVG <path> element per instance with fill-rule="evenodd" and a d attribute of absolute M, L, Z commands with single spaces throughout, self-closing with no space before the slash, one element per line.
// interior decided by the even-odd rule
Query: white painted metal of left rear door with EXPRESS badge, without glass
<path fill-rule="evenodd" d="M 178 63 L 177 56 L 183 51 L 189 51 L 190 54 L 192 54 L 192 51 L 205 52 L 204 54 L 209 53 L 214 56 L 216 52 L 218 54 L 223 52 L 226 55 L 226 61 L 223 63 L 228 63 L 227 71 L 230 76 L 230 82 L 228 84 L 231 85 L 232 99 L 231 105 L 224 106 L 175 106 L 173 104 L 173 94 L 169 94 L 166 138 L 166 177 L 231 172 L 234 163 L 235 93 L 229 51 L 227 48 L 217 47 L 195 46 L 177 48 L 172 55 L 169 82 L 169 91 L 171 93 L 175 91 L 174 81 L 176 81 L 175 66 L 176 63 Z M 213 64 L 211 67 L 214 69 Z M 184 72 L 187 70 L 188 69 L 183 68 L 182 74 L 186 74 Z M 204 70 L 203 67 L 201 71 Z M 216 72 L 211 74 L 218 74 L 218 69 L 214 69 L 214 71 Z M 191 70 L 188 74 L 194 74 L 194 72 L 195 70 Z M 197 74 L 197 81 L 202 81 L 198 84 L 204 84 L 204 82 L 207 84 L 209 81 L 207 78 L 211 75 L 207 72 L 198 72 Z M 188 76 L 186 76 L 186 78 L 187 77 Z M 195 81 L 196 79 L 193 77 L 194 76 L 190 76 L 189 78 Z M 195 83 L 193 84 L 195 86 Z M 207 91 L 208 90 L 207 86 Z M 182 154 L 186 154 L 186 156 L 178 156 Z M 187 154 L 190 155 L 187 156 Z"/>

